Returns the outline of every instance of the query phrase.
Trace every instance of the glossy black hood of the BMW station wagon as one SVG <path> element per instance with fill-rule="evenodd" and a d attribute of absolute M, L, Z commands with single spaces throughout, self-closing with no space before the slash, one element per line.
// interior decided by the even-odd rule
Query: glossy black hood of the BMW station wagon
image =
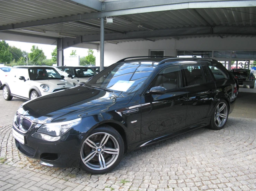
<path fill-rule="evenodd" d="M 132 97 L 77 86 L 28 101 L 18 113 L 40 124 L 69 121 L 123 107 Z"/>

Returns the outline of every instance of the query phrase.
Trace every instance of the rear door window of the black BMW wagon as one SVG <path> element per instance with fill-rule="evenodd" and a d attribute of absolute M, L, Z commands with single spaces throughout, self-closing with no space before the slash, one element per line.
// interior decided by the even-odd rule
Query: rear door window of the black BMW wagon
<path fill-rule="evenodd" d="M 184 75 L 187 79 L 186 86 L 203 84 L 205 82 L 204 71 L 201 64 L 186 64 L 183 65 Z"/>

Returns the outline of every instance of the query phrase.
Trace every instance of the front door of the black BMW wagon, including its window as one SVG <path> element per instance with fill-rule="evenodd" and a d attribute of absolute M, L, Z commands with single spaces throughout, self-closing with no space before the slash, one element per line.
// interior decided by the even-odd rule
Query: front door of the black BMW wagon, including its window
<path fill-rule="evenodd" d="M 145 94 L 141 98 L 141 139 L 157 137 L 186 126 L 187 91 L 182 82 L 180 66 L 162 69 L 150 88 L 164 87 L 162 95 Z M 150 89 L 149 88 L 149 89 Z"/>

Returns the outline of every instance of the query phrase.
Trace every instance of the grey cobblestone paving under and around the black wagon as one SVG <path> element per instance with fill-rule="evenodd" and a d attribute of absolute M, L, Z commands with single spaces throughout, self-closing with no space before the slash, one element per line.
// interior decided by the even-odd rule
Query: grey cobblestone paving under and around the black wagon
<path fill-rule="evenodd" d="M 18 172 L 30 170 L 105 191 L 256 190 L 255 126 L 256 119 L 230 117 L 220 131 L 201 128 L 127 153 L 118 167 L 103 175 L 38 164 L 17 151 L 10 125 L 0 128 L 0 155 L 3 163 L 22 168 Z M 2 188 L 15 184 L 9 177 L 0 178 Z"/>

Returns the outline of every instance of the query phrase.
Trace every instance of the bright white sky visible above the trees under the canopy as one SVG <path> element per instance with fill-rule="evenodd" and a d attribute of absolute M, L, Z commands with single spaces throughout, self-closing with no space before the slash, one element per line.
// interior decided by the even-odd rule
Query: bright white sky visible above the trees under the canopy
<path fill-rule="evenodd" d="M 36 44 L 36 43 L 17 42 L 17 41 L 9 41 L 9 40 L 6 40 L 6 42 L 9 44 L 9 46 L 15 46 L 16 48 L 25 50 L 28 53 L 31 52 L 30 49 L 32 48 L 33 45 L 38 46 L 39 49 L 43 50 L 44 55 L 47 57 L 47 59 L 52 58 L 51 53 L 53 52 L 53 49 L 56 48 L 55 45 L 47 45 L 47 44 Z M 70 47 L 70 48 L 64 49 L 64 57 L 70 56 L 70 53 L 72 50 L 77 50 L 77 55 L 80 57 L 85 57 L 88 55 L 88 53 L 87 53 L 88 49 L 86 49 L 86 48 Z M 94 55 L 95 55 L 95 50 L 94 50 Z"/>

